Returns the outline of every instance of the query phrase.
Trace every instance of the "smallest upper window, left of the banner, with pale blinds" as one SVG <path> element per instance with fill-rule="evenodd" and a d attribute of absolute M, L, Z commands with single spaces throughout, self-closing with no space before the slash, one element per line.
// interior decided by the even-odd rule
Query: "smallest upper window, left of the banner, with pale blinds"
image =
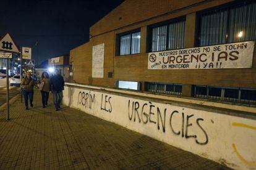
<path fill-rule="evenodd" d="M 119 36 L 120 55 L 139 54 L 140 53 L 140 31 Z"/>

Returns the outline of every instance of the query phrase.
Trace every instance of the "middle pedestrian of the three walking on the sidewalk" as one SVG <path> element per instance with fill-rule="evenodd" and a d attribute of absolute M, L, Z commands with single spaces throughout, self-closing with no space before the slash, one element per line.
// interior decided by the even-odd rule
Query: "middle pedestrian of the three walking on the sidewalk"
<path fill-rule="evenodd" d="M 46 71 L 43 71 L 41 75 L 39 89 L 41 91 L 43 108 L 45 108 L 48 105 L 49 99 L 49 74 Z"/>

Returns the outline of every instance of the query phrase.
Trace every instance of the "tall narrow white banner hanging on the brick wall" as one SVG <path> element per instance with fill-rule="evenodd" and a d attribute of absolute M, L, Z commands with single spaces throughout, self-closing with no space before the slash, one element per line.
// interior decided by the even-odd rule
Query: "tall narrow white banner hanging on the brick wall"
<path fill-rule="evenodd" d="M 93 46 L 92 77 L 104 78 L 104 48 L 105 44 Z"/>

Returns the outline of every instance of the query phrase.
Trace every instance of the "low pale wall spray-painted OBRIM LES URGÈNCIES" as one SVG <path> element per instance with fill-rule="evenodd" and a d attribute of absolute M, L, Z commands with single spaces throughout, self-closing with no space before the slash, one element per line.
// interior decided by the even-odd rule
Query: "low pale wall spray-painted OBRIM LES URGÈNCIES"
<path fill-rule="evenodd" d="M 77 86 L 65 87 L 63 103 L 231 168 L 256 168 L 255 119 Z"/>

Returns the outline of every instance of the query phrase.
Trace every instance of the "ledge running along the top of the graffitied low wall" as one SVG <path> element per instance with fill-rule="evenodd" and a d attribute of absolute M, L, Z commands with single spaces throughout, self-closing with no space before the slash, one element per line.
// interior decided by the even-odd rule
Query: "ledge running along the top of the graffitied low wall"
<path fill-rule="evenodd" d="M 200 110 L 214 111 L 225 115 L 239 116 L 242 118 L 256 119 L 256 107 L 244 105 L 235 105 L 233 103 L 213 102 L 204 99 L 195 99 L 192 97 L 179 97 L 164 94 L 152 94 L 149 92 L 130 91 L 122 89 L 114 89 L 111 87 L 91 86 L 77 83 L 65 83 L 66 86 L 82 87 L 94 91 L 104 91 L 107 93 L 116 93 L 121 95 L 133 95 L 139 98 L 148 98 L 156 102 L 169 103 L 171 105 L 186 106 L 189 108 L 197 108 Z"/>

